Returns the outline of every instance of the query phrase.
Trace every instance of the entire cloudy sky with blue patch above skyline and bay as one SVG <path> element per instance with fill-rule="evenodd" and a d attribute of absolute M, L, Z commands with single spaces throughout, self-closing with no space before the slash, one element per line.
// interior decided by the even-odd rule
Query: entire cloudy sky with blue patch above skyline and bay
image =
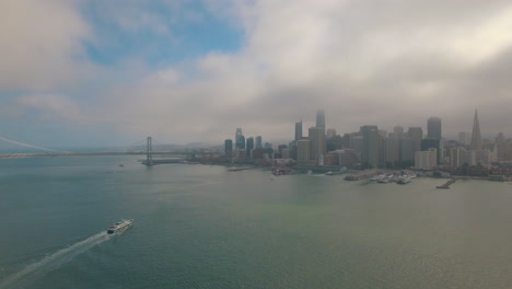
<path fill-rule="evenodd" d="M 2 0 L 0 137 L 291 140 L 379 125 L 512 137 L 510 0 Z"/>

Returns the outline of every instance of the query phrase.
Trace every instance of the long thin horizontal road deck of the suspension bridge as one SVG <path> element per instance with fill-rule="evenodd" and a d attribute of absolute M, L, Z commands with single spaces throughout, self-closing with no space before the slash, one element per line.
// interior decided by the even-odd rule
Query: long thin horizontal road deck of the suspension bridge
<path fill-rule="evenodd" d="M 153 151 L 155 155 L 187 157 L 189 153 L 174 151 Z M 44 153 L 0 153 L 0 159 L 16 158 L 45 158 L 45 157 L 92 157 L 92 155 L 146 155 L 144 151 L 123 152 L 123 151 L 90 151 L 90 152 L 44 152 Z"/>

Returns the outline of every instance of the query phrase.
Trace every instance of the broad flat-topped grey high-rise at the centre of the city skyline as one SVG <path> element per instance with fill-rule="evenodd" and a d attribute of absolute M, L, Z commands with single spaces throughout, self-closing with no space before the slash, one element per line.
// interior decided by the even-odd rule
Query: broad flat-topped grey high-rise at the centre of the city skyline
<path fill-rule="evenodd" d="M 361 151 L 361 166 L 363 169 L 379 165 L 379 152 L 381 148 L 381 135 L 377 126 L 362 126 L 360 134 L 363 138 Z"/>

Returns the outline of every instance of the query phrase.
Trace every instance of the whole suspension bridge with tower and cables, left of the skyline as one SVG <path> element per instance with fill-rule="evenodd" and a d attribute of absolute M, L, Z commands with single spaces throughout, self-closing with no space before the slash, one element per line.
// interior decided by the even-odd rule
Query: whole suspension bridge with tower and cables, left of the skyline
<path fill-rule="evenodd" d="M 44 157 L 77 157 L 77 155 L 146 155 L 142 164 L 152 166 L 162 163 L 178 163 L 183 162 L 186 158 L 193 157 L 194 153 L 183 152 L 176 150 L 165 150 L 153 148 L 153 138 L 148 137 L 143 141 L 138 141 L 131 146 L 125 147 L 124 151 L 120 150 L 105 150 L 105 151 L 63 151 L 56 149 L 48 149 L 35 144 L 12 140 L 9 138 L 0 137 L 0 159 L 12 158 L 44 158 Z M 156 144 L 160 148 L 165 148 L 165 144 Z M 154 158 L 158 157 L 158 158 Z"/>

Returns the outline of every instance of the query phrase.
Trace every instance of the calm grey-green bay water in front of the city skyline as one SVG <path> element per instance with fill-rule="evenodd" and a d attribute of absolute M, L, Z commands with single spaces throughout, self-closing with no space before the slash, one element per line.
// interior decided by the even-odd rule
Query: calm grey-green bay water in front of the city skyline
<path fill-rule="evenodd" d="M 138 159 L 0 160 L 0 288 L 512 287 L 508 183 Z"/>

